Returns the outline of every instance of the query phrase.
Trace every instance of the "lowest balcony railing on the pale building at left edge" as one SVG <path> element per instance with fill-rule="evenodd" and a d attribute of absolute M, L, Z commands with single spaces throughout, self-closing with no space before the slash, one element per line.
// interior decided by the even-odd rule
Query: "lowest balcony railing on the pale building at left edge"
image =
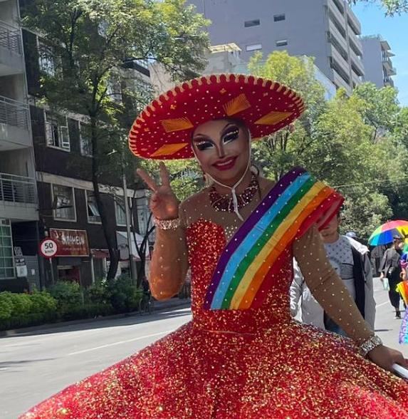
<path fill-rule="evenodd" d="M 0 173 L 0 201 L 36 204 L 36 182 L 31 177 Z"/>

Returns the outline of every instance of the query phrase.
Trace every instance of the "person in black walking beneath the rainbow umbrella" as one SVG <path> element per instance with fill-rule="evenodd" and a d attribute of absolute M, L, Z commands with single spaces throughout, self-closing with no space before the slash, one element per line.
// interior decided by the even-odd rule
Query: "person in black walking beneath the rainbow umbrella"
<path fill-rule="evenodd" d="M 399 261 L 402 255 L 402 247 L 404 247 L 404 240 L 402 237 L 395 235 L 392 239 L 392 245 L 385 251 L 382 257 L 382 264 L 380 267 L 380 279 L 384 281 L 388 279 L 389 284 L 389 302 L 395 309 L 394 319 L 401 319 L 401 311 L 399 310 L 400 296 L 397 292 L 397 285 L 401 281 L 401 265 Z"/>

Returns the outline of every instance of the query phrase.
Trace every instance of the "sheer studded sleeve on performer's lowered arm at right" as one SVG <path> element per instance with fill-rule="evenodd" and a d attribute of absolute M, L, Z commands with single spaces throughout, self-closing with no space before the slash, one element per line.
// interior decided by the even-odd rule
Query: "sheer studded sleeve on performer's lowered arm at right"
<path fill-rule="evenodd" d="M 331 266 L 317 227 L 313 226 L 293 243 L 306 284 L 325 312 L 357 345 L 374 335 Z"/>

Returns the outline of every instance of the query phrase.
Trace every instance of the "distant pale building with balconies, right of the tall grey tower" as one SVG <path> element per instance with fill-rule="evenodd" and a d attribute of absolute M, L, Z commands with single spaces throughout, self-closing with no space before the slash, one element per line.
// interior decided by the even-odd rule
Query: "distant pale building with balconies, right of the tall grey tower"
<path fill-rule="evenodd" d="M 392 66 L 391 58 L 394 53 L 389 43 L 380 35 L 363 36 L 361 42 L 364 53 L 362 61 L 365 66 L 365 81 L 375 83 L 378 88 L 394 87 L 392 76 L 395 76 L 397 71 Z"/>

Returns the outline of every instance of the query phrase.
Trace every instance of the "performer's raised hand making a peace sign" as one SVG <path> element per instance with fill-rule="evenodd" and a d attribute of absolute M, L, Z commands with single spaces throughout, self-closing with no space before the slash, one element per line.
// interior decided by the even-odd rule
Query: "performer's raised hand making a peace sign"
<path fill-rule="evenodd" d="M 170 186 L 169 171 L 163 162 L 159 165 L 162 185 L 157 185 L 155 180 L 143 169 L 137 169 L 137 175 L 142 177 L 146 185 L 152 190 L 150 209 L 157 219 L 175 219 L 179 217 L 179 200 Z"/>

